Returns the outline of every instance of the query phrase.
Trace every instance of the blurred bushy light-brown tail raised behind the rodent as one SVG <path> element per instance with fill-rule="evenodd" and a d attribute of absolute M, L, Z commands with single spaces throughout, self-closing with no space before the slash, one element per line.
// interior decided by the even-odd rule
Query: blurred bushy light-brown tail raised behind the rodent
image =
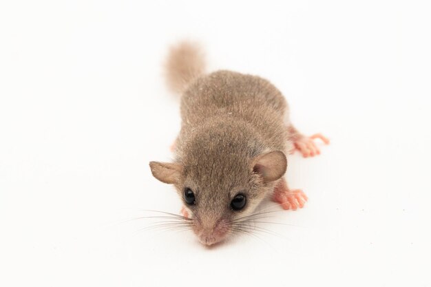
<path fill-rule="evenodd" d="M 181 94 L 193 79 L 204 74 L 205 59 L 200 46 L 181 42 L 171 47 L 166 63 L 169 88 Z"/>

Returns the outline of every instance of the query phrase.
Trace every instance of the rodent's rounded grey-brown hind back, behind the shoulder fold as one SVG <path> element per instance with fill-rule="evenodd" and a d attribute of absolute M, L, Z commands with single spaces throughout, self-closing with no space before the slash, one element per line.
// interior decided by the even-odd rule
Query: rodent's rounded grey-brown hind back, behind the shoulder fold
<path fill-rule="evenodd" d="M 181 98 L 182 131 L 214 118 L 226 117 L 249 123 L 270 149 L 284 150 L 287 103 L 269 81 L 230 71 L 218 71 L 196 79 Z"/>

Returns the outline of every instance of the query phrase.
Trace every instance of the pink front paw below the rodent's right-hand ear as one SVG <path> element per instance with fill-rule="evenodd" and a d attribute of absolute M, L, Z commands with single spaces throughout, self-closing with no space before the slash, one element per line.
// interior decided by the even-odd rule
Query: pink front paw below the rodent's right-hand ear
<path fill-rule="evenodd" d="M 301 189 L 289 189 L 284 177 L 274 188 L 273 201 L 280 203 L 283 209 L 296 210 L 298 206 L 302 209 L 307 200 L 307 195 Z"/>

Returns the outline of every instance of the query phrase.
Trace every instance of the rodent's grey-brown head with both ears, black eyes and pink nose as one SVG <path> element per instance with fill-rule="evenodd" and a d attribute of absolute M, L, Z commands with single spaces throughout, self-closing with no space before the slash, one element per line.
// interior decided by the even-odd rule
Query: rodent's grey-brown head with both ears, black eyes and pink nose
<path fill-rule="evenodd" d="M 191 215 L 200 242 L 212 245 L 239 231 L 238 222 L 250 215 L 286 172 L 282 151 L 253 158 L 242 153 L 208 149 L 185 162 L 150 162 L 153 176 L 174 184 Z M 235 229 L 237 228 L 237 229 Z"/>

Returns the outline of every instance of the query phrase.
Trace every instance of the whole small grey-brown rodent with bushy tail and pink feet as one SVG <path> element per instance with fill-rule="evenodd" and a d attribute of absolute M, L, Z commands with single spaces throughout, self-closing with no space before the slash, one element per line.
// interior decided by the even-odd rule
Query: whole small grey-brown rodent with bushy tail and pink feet
<path fill-rule="evenodd" d="M 286 153 L 319 154 L 288 119 L 282 93 L 259 76 L 218 71 L 205 74 L 197 45 L 183 42 L 167 59 L 169 87 L 181 94 L 180 134 L 174 162 L 150 162 L 153 176 L 174 184 L 182 215 L 205 245 L 234 233 L 266 195 L 284 209 L 304 206 L 306 195 L 289 189 Z"/>

